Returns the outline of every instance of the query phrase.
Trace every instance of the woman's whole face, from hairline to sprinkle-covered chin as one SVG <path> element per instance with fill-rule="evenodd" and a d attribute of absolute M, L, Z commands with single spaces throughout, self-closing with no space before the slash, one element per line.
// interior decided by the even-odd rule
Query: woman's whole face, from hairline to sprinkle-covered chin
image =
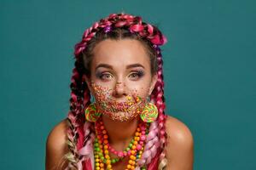
<path fill-rule="evenodd" d="M 131 121 L 145 106 L 154 89 L 156 75 L 142 42 L 131 39 L 104 40 L 93 49 L 87 83 L 97 110 L 115 121 Z"/>

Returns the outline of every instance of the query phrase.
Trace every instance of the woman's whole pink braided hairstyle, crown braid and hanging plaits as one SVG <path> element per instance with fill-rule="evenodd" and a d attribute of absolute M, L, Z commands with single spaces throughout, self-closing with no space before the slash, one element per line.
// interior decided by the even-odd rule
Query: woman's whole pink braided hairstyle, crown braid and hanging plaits
<path fill-rule="evenodd" d="M 69 152 L 67 169 L 82 169 L 93 164 L 93 140 L 95 131 L 86 122 L 84 110 L 90 105 L 90 90 L 85 82 L 90 77 L 90 61 L 93 57 L 92 51 L 98 42 L 105 39 L 136 39 L 143 43 L 148 52 L 152 75 L 157 73 L 158 80 L 151 94 L 151 101 L 157 106 L 159 116 L 156 122 L 151 123 L 149 128 L 147 144 L 143 156 L 138 161 L 138 167 L 148 166 L 148 169 L 156 169 L 159 165 L 165 166 L 166 130 L 165 130 L 165 99 L 164 82 L 162 71 L 162 57 L 160 45 L 166 42 L 155 26 L 142 21 L 139 16 L 131 14 L 110 14 L 107 18 L 96 22 L 84 31 L 81 42 L 75 45 L 75 68 L 71 78 L 70 111 L 68 112 L 67 144 Z M 87 162 L 87 163 L 85 163 Z M 89 163 L 88 163 L 89 162 Z M 86 168 L 87 169 L 87 168 Z M 90 169 L 90 167 L 88 167 Z"/>

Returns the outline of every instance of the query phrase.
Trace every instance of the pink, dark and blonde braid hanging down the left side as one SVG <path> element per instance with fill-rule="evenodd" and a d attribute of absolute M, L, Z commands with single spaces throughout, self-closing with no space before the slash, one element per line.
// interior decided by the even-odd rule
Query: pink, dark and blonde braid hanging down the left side
<path fill-rule="evenodd" d="M 78 62 L 76 62 L 78 66 Z M 68 167 L 71 169 L 78 168 L 79 162 L 79 149 L 84 143 L 84 115 L 83 106 L 90 102 L 89 89 L 84 88 L 84 78 L 80 76 L 78 68 L 73 69 L 73 77 L 71 80 L 71 99 L 70 99 L 70 111 L 67 119 L 69 121 L 69 128 L 67 130 L 67 144 L 69 147 L 69 153 L 66 157 L 69 161 Z M 83 91 L 84 89 L 84 91 Z"/>

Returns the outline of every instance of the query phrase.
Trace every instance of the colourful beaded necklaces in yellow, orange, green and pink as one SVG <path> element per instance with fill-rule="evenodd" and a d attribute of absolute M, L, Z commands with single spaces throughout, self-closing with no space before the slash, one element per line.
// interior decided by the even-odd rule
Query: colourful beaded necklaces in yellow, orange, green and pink
<path fill-rule="evenodd" d="M 129 156 L 130 159 L 125 170 L 135 169 L 137 159 L 143 154 L 148 127 L 148 123 L 140 122 L 128 147 L 124 151 L 117 151 L 108 143 L 108 133 L 103 125 L 102 119 L 95 122 L 96 139 L 94 141 L 94 156 L 96 170 L 104 170 L 105 168 L 112 170 L 112 164 L 123 160 L 126 156 Z M 109 152 L 112 152 L 117 157 L 111 158 Z M 142 167 L 141 169 L 144 170 L 146 168 Z"/>

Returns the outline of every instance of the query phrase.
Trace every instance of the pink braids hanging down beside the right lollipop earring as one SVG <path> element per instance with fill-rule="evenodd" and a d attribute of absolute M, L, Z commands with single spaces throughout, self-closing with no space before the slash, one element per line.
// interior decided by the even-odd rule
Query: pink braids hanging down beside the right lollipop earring
<path fill-rule="evenodd" d="M 166 129 L 165 129 L 166 115 L 164 111 L 165 111 L 166 105 L 163 102 L 164 101 L 164 82 L 163 82 L 163 74 L 162 74 L 163 62 L 160 54 L 160 48 L 155 47 L 155 50 L 157 52 L 157 61 L 158 61 L 158 71 L 157 71 L 158 80 L 154 87 L 153 93 L 151 94 L 151 101 L 153 101 L 157 106 L 159 111 L 159 116 L 158 116 L 157 122 L 152 122 L 151 126 L 152 128 L 154 128 L 154 131 L 153 131 L 154 133 L 149 131 L 147 144 L 145 145 L 143 156 L 138 161 L 139 167 L 143 167 L 143 165 L 148 165 L 148 169 L 157 169 L 158 160 L 161 162 L 166 156 L 164 153 L 164 148 L 166 144 Z M 153 136 L 154 136 L 155 142 L 154 140 L 150 140 L 153 138 Z M 156 154 L 157 151 L 158 153 Z"/>

